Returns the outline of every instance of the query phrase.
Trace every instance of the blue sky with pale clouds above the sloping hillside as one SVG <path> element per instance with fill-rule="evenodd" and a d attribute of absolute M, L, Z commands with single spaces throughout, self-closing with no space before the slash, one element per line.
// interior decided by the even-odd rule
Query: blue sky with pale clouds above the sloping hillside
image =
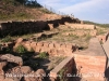
<path fill-rule="evenodd" d="M 74 14 L 83 21 L 109 24 L 109 0 L 37 0 L 65 14 Z"/>

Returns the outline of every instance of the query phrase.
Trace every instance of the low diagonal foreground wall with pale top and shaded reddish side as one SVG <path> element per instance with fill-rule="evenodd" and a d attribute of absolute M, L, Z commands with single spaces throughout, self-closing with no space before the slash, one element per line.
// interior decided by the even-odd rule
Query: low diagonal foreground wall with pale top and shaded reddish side
<path fill-rule="evenodd" d="M 70 56 L 50 71 L 50 77 L 56 81 L 70 81 L 70 77 L 68 75 L 72 75 L 74 70 L 76 70 L 76 65 L 73 56 Z"/>

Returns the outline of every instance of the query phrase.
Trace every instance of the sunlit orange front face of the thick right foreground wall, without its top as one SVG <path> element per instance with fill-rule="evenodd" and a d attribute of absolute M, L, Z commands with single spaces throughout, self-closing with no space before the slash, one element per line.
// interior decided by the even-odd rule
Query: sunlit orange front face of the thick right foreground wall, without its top
<path fill-rule="evenodd" d="M 89 81 L 104 81 L 106 56 L 74 54 L 76 67 L 83 78 Z"/>

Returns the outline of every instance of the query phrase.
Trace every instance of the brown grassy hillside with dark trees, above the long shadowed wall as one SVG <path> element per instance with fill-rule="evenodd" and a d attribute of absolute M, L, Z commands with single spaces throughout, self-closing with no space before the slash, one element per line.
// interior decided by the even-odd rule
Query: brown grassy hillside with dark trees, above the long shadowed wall
<path fill-rule="evenodd" d="M 39 19 L 41 15 L 52 13 L 39 3 L 23 0 L 0 0 L 0 21 Z"/>

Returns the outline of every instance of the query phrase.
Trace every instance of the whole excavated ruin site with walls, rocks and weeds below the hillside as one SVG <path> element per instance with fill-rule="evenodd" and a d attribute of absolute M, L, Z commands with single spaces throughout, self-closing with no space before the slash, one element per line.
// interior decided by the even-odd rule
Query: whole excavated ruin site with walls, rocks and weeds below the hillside
<path fill-rule="evenodd" d="M 61 16 L 0 23 L 0 81 L 109 80 L 108 29 Z"/>

